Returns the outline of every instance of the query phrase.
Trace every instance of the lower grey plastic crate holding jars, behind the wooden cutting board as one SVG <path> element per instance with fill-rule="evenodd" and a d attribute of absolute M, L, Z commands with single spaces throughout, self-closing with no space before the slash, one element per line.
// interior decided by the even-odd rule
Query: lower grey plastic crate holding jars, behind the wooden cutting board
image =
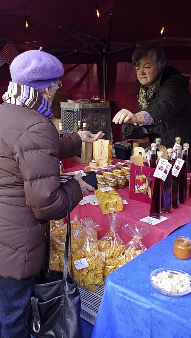
<path fill-rule="evenodd" d="M 63 133 L 78 131 L 78 120 L 87 123 L 87 129 L 92 134 L 99 130 L 105 133 L 105 140 L 111 140 L 111 108 L 87 108 L 76 109 L 61 107 L 61 120 L 63 122 Z"/>

